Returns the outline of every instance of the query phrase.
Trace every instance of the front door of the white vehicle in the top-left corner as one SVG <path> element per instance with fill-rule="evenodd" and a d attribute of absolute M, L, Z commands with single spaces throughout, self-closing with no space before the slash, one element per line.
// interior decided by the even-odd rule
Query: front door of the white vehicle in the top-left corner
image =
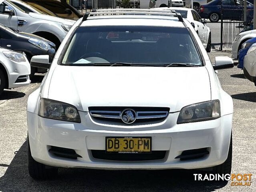
<path fill-rule="evenodd" d="M 5 12 L 6 6 L 10 6 L 10 5 L 6 4 L 5 2 L 2 2 L 0 4 L 0 23 L 3 24 L 4 26 L 13 27 L 13 28 L 17 29 L 16 10 L 12 6 L 10 6 L 12 8 L 12 10 L 14 11 L 14 15 L 10 15 Z"/>

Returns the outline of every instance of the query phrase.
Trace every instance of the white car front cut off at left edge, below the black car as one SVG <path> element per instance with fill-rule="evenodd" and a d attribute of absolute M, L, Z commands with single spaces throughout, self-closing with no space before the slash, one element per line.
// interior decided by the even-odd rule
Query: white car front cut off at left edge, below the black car
<path fill-rule="evenodd" d="M 26 56 L 0 47 L 0 94 L 4 89 L 30 83 L 30 64 Z"/>

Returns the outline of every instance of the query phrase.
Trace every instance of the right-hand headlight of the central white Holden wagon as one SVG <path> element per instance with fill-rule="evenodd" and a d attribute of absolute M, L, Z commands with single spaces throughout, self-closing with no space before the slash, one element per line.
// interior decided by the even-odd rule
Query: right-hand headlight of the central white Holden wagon
<path fill-rule="evenodd" d="M 183 107 L 177 124 L 212 120 L 220 117 L 220 101 L 208 101 Z"/>

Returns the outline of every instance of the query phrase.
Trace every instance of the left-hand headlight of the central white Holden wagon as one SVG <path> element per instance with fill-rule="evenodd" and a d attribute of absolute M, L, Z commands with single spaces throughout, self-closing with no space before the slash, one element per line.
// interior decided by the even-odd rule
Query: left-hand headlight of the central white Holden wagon
<path fill-rule="evenodd" d="M 75 106 L 41 98 L 38 115 L 44 118 L 81 123 Z"/>

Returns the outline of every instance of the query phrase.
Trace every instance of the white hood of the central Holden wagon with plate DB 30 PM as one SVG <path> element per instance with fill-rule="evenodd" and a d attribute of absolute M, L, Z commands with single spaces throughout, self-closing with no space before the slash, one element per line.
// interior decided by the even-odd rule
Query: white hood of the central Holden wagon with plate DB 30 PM
<path fill-rule="evenodd" d="M 211 89 L 205 67 L 58 65 L 48 98 L 81 111 L 90 106 L 155 106 L 177 112 L 189 104 L 211 100 Z"/>

